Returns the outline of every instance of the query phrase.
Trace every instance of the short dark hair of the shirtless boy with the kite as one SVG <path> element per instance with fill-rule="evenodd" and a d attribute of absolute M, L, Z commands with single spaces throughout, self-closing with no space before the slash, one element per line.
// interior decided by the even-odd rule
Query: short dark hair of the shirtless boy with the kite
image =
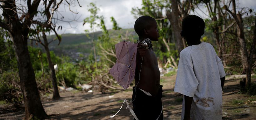
<path fill-rule="evenodd" d="M 155 19 L 150 16 L 141 16 L 139 17 L 134 24 L 134 30 L 135 32 L 141 36 L 144 34 L 144 29 L 147 29 L 150 27 L 151 22 L 154 22 Z"/>

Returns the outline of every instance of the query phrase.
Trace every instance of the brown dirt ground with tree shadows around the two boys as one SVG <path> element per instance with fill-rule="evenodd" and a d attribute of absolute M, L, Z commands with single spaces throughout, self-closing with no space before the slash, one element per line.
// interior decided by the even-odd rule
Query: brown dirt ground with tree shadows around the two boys
<path fill-rule="evenodd" d="M 176 76 L 162 77 L 163 87 L 162 102 L 164 105 L 164 120 L 179 120 L 182 106 L 182 96 L 173 92 Z M 223 92 L 223 119 L 224 120 L 255 120 L 256 96 L 238 94 L 239 81 L 228 80 Z M 53 101 L 42 100 L 43 107 L 52 120 L 133 120 L 126 105 L 114 117 L 124 98 L 131 99 L 131 89 L 115 94 L 86 93 L 70 91 L 60 93 L 62 99 Z M 132 104 L 130 103 L 130 107 Z M 24 112 L 11 112 L 0 110 L 0 120 L 21 120 Z"/>

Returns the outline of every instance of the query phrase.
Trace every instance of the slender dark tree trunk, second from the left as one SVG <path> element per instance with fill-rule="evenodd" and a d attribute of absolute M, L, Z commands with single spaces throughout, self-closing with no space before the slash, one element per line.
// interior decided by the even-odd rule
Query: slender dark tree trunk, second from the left
<path fill-rule="evenodd" d="M 47 38 L 46 38 L 46 35 L 45 35 L 44 32 L 43 32 L 43 40 L 44 40 L 45 52 L 46 52 L 46 55 L 47 55 L 47 61 L 48 61 L 48 64 L 49 64 L 49 68 L 51 70 L 52 87 L 53 87 L 53 97 L 52 97 L 52 99 L 56 100 L 56 99 L 59 99 L 61 97 L 60 97 L 58 86 L 57 86 L 57 78 L 56 78 L 55 70 L 54 70 L 54 67 L 53 67 L 53 64 L 52 64 L 50 50 L 48 48 L 48 41 L 47 41 Z"/>

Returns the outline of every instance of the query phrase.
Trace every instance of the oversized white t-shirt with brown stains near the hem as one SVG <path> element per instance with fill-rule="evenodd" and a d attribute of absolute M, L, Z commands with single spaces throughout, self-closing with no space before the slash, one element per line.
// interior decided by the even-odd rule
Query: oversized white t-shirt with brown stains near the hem
<path fill-rule="evenodd" d="M 191 120 L 221 120 L 222 90 L 220 78 L 225 71 L 213 46 L 202 42 L 180 52 L 174 91 L 193 97 Z M 184 97 L 181 120 L 184 118 Z"/>

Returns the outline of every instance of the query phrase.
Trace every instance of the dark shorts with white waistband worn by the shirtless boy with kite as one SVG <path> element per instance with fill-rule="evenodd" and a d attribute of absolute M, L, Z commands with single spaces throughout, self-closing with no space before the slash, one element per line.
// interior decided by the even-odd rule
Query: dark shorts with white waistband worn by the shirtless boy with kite
<path fill-rule="evenodd" d="M 155 96 L 148 96 L 138 88 L 136 88 L 135 92 L 135 87 L 133 87 L 132 106 L 139 120 L 156 120 L 159 115 L 158 120 L 163 120 L 163 112 L 161 113 L 163 106 L 161 100 L 163 92 L 162 87 L 163 85 L 160 85 L 158 94 Z"/>

